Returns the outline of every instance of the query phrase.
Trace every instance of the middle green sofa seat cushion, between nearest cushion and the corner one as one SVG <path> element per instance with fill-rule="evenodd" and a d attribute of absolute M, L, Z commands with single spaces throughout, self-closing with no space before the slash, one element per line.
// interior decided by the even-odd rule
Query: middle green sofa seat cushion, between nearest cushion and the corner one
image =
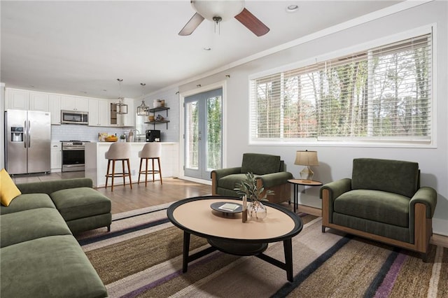
<path fill-rule="evenodd" d="M 0 245 L 2 248 L 55 235 L 71 235 L 64 218 L 55 208 L 37 208 L 1 215 Z"/>

